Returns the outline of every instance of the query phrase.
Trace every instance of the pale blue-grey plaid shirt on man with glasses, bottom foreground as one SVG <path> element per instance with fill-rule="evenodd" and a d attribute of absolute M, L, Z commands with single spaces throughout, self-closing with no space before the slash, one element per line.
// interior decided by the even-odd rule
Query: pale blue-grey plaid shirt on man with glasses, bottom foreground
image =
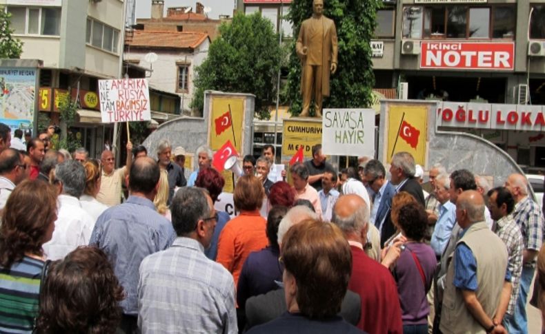
<path fill-rule="evenodd" d="M 140 265 L 141 333 L 238 333 L 232 275 L 204 255 L 197 240 L 179 237 Z"/>

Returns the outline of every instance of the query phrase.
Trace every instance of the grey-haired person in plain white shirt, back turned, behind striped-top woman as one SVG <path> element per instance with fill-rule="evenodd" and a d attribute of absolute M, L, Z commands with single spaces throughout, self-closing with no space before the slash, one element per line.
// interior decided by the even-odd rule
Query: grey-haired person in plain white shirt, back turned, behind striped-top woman
<path fill-rule="evenodd" d="M 59 260 L 78 246 L 88 244 L 95 220 L 81 207 L 79 197 L 85 189 L 86 174 L 76 160 L 66 160 L 55 167 L 53 183 L 61 189 L 59 213 L 53 237 L 43 244 L 48 260 Z"/>

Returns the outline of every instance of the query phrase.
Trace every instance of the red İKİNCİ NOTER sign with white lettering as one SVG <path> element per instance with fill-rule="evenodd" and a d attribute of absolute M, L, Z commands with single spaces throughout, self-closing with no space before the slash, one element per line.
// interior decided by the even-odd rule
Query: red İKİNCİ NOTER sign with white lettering
<path fill-rule="evenodd" d="M 420 68 L 513 70 L 515 43 L 420 43 Z"/>

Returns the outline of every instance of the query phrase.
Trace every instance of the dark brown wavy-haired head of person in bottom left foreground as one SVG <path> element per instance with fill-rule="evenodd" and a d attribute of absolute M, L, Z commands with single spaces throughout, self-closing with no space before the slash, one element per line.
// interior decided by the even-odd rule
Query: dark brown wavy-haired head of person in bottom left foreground
<path fill-rule="evenodd" d="M 115 333 L 123 298 L 106 253 L 79 247 L 50 265 L 41 291 L 38 333 Z"/>

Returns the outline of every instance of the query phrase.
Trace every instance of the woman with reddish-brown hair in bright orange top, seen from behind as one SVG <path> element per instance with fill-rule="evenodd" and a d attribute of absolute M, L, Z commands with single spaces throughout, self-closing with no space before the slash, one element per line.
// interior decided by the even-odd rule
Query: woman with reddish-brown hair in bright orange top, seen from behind
<path fill-rule="evenodd" d="M 221 263 L 238 284 L 242 265 L 252 251 L 267 246 L 267 222 L 259 214 L 265 190 L 258 178 L 245 175 L 239 178 L 233 200 L 239 216 L 230 220 L 219 234 L 216 261 Z"/>

